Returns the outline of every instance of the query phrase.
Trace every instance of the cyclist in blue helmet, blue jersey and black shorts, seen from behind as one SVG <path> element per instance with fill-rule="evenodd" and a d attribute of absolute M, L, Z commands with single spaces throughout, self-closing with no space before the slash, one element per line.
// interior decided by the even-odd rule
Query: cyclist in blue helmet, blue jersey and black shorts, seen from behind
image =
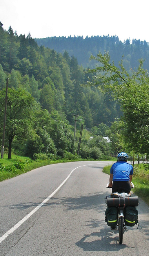
<path fill-rule="evenodd" d="M 112 193 L 124 191 L 130 194 L 133 177 L 133 166 L 127 163 L 128 155 L 125 152 L 118 154 L 117 162 L 111 166 L 109 186 Z"/>

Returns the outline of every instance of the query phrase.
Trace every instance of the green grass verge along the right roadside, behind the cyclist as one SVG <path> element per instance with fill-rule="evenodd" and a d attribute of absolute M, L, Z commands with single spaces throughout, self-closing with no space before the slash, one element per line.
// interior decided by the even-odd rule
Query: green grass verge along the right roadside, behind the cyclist
<path fill-rule="evenodd" d="M 110 168 L 111 165 L 105 166 L 103 172 L 110 174 Z M 145 171 L 143 164 L 140 164 L 140 166 L 134 164 L 132 182 L 134 183 L 133 192 L 149 204 L 149 170 Z"/>

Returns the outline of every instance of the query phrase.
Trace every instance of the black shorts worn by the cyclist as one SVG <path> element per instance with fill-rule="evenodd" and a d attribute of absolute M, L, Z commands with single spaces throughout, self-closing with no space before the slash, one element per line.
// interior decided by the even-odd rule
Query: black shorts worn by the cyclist
<path fill-rule="evenodd" d="M 113 181 L 112 192 L 124 191 L 129 193 L 131 191 L 130 181 Z"/>

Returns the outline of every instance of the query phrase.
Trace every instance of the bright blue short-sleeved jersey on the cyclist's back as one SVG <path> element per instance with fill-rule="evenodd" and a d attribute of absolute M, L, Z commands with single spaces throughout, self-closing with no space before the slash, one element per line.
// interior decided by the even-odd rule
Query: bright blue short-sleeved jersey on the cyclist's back
<path fill-rule="evenodd" d="M 133 166 L 119 161 L 111 166 L 110 173 L 113 174 L 113 181 L 129 181 L 129 175 L 133 175 Z"/>

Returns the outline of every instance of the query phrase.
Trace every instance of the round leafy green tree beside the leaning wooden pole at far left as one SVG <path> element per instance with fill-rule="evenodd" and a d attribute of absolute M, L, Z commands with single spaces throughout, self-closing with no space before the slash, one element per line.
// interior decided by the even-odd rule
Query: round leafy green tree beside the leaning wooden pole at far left
<path fill-rule="evenodd" d="M 32 108 L 34 99 L 29 93 L 22 89 L 12 90 L 8 88 L 7 99 L 7 120 L 5 127 L 5 142 L 8 145 L 8 158 L 11 158 L 12 142 L 14 137 L 17 140 L 27 138 L 32 125 Z M 0 91 L 0 113 L 1 120 L 4 119 L 5 89 Z M 0 123 L 2 126 L 2 123 Z M 2 128 L 2 127 L 1 127 Z M 2 130 L 2 129 L 1 129 Z"/>

